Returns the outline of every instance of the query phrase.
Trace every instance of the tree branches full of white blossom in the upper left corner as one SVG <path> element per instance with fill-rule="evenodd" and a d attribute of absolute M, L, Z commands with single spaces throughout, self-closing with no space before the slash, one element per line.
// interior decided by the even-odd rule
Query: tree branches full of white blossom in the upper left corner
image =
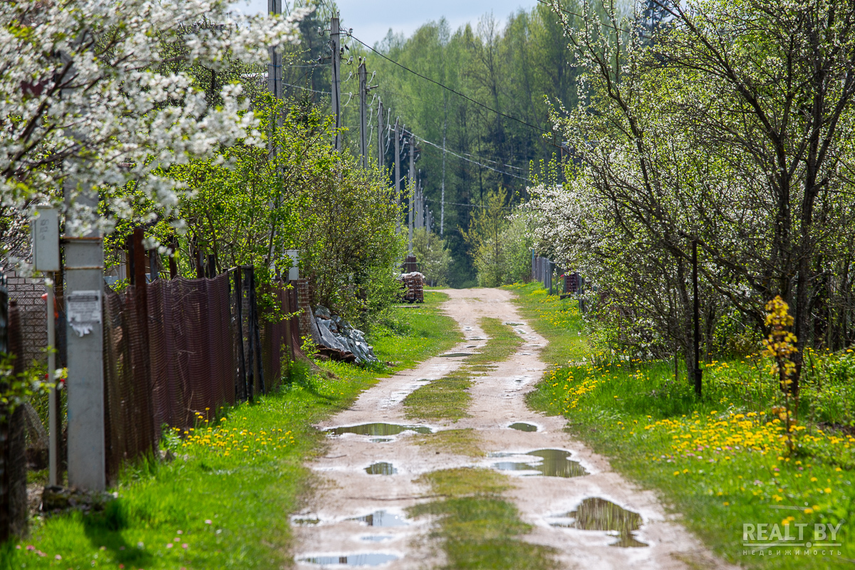
<path fill-rule="evenodd" d="M 248 17 L 227 7 L 221 0 L 0 3 L 4 232 L 15 233 L 36 202 L 67 204 L 70 235 L 109 231 L 109 217 L 83 194 L 97 191 L 102 208 L 127 216 L 133 193 L 116 190 L 128 184 L 169 214 L 180 188 L 157 168 L 239 140 L 264 144 L 239 85 L 225 85 L 221 105 L 209 108 L 203 86 L 169 71 L 169 58 L 180 53 L 212 69 L 227 58 L 263 62 L 268 47 L 298 42 L 306 10 Z M 182 49 L 165 49 L 179 42 Z"/>

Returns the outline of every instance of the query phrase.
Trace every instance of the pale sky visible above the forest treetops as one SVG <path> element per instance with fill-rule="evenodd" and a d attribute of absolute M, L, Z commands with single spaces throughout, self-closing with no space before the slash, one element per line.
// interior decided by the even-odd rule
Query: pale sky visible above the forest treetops
<path fill-rule="evenodd" d="M 445 19 L 451 30 L 466 22 L 475 24 L 478 18 L 492 10 L 499 21 L 505 21 L 516 9 L 530 9 L 537 0 L 339 0 L 339 10 L 345 26 L 353 35 L 368 44 L 386 37 L 386 32 L 404 32 L 410 36 L 427 21 Z M 290 2 L 289 2 L 290 3 Z M 267 0 L 241 0 L 235 8 L 245 14 L 267 11 Z"/>

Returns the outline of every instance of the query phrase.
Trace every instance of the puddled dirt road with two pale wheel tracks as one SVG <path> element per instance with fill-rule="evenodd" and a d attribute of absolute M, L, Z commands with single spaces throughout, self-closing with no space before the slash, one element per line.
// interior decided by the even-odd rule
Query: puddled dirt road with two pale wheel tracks
<path fill-rule="evenodd" d="M 443 377 L 463 360 L 437 356 L 381 380 L 350 409 L 318 426 L 351 426 L 351 432 L 339 430 L 343 433 L 331 436 L 327 454 L 310 465 L 322 483 L 310 506 L 292 516 L 298 568 L 441 567 L 442 550 L 428 539 L 433 521 L 408 520 L 404 509 L 433 500 L 427 487 L 416 484 L 420 475 L 466 466 L 511 475 L 514 488 L 505 497 L 516 503 L 522 520 L 534 526 L 523 539 L 556 549 L 559 567 L 728 567 L 666 514 L 652 492 L 628 483 L 611 471 L 604 457 L 569 437 L 563 431 L 566 420 L 526 407 L 525 394 L 534 389 L 546 366 L 539 357 L 546 341 L 517 314 L 512 293 L 445 292 L 451 299 L 444 309 L 466 338 L 451 354 L 472 352 L 486 343 L 478 326 L 482 317 L 516 323 L 522 347 L 491 373 L 475 377 L 470 417 L 457 423 L 427 425 L 404 417 L 402 402 L 410 392 Z M 421 431 L 472 428 L 485 456 L 473 459 L 418 445 L 414 431 L 354 427 L 376 423 L 417 426 Z M 512 424 L 528 427 L 514 429 Z"/>

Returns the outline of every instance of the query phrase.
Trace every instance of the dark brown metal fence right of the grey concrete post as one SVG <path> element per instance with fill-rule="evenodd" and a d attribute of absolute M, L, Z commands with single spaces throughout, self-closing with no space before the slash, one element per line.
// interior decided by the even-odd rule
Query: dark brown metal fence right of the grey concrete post
<path fill-rule="evenodd" d="M 297 318 L 281 318 L 297 312 L 296 291 L 274 286 L 271 311 L 259 314 L 252 267 L 142 287 L 105 293 L 110 480 L 122 461 L 156 451 L 163 425 L 191 427 L 196 414 L 278 387 L 299 350 Z"/>

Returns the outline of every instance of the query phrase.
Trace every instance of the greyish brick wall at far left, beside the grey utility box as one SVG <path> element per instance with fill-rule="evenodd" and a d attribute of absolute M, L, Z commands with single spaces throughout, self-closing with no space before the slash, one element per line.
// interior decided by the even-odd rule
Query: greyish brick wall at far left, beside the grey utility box
<path fill-rule="evenodd" d="M 15 271 L 4 270 L 9 299 L 18 303 L 21 315 L 22 359 L 25 366 L 32 361 L 47 361 L 44 348 L 48 344 L 47 313 L 44 310 L 44 280 L 21 277 Z"/>

